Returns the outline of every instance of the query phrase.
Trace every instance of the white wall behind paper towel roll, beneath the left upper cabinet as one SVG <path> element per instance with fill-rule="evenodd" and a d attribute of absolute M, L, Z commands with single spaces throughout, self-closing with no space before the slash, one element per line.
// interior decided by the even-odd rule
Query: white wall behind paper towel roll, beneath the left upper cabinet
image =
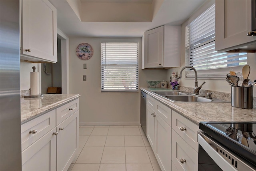
<path fill-rule="evenodd" d="M 36 72 L 38 72 L 38 64 L 20 62 L 20 90 L 30 88 L 30 72 L 33 72 L 33 66 L 36 67 Z"/>

